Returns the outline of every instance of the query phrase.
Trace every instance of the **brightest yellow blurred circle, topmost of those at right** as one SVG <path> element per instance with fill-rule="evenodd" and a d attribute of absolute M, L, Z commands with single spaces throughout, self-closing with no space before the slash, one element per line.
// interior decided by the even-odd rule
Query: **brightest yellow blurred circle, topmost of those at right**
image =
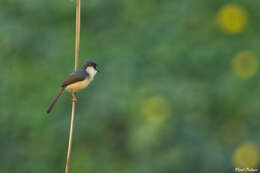
<path fill-rule="evenodd" d="M 237 4 L 225 5 L 217 13 L 217 24 L 226 34 L 239 34 L 248 23 L 246 10 Z"/>

